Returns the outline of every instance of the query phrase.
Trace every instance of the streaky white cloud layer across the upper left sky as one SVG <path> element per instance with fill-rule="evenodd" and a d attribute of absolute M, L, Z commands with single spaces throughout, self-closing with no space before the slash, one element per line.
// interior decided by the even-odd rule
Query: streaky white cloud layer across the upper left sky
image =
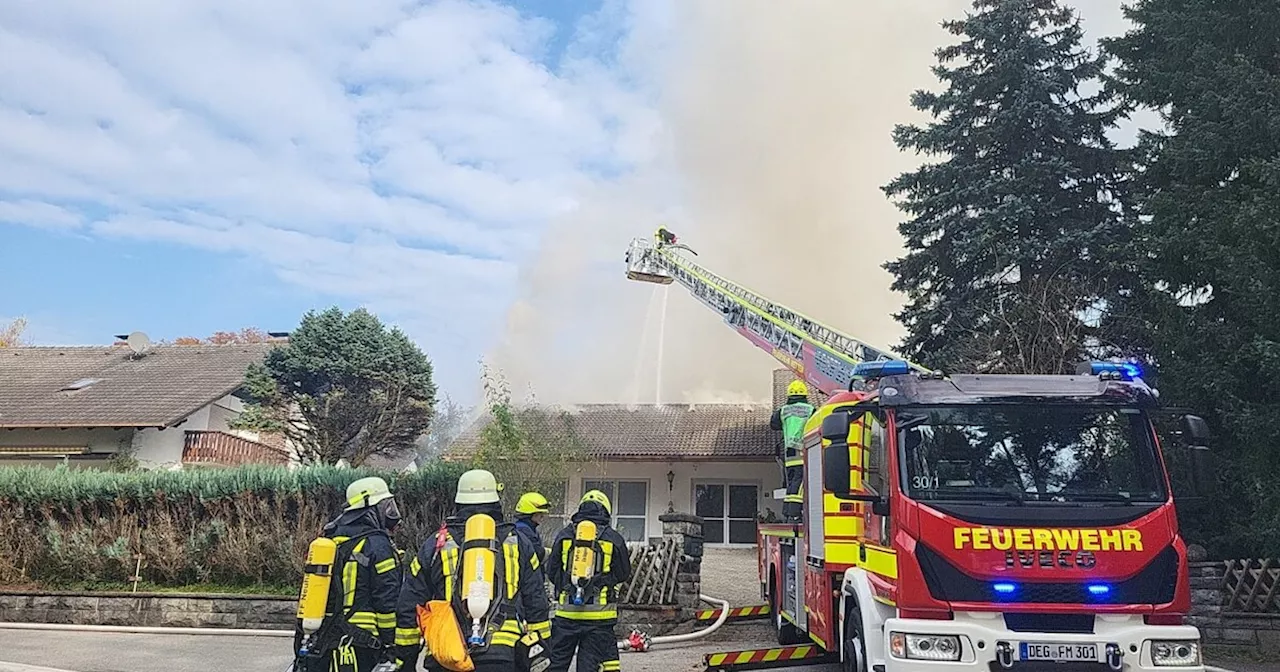
<path fill-rule="evenodd" d="M 614 47 L 484 0 L 0 6 L 0 223 L 255 257 L 474 376 L 545 223 L 658 128 Z M 234 326 L 234 325 L 232 325 Z"/>

